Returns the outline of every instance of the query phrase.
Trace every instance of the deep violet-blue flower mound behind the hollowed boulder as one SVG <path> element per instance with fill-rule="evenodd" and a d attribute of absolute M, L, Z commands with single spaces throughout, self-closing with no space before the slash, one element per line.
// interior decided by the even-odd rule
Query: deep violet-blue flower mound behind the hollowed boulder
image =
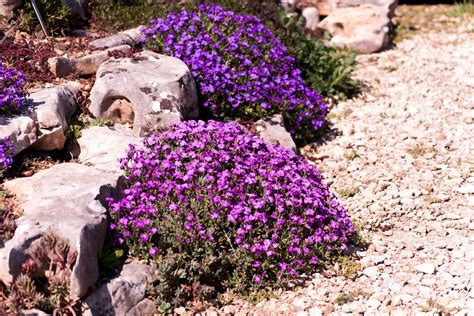
<path fill-rule="evenodd" d="M 201 5 L 151 21 L 142 41 L 183 60 L 203 106 L 216 117 L 262 118 L 283 113 L 290 132 L 314 133 L 327 106 L 306 86 L 295 59 L 256 17 Z"/>

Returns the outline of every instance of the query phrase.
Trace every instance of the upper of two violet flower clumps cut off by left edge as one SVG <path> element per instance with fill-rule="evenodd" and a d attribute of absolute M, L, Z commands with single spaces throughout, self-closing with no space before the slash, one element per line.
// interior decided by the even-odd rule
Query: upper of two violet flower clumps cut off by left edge
<path fill-rule="evenodd" d="M 0 59 L 0 113 L 17 111 L 26 95 L 23 74 Z"/>

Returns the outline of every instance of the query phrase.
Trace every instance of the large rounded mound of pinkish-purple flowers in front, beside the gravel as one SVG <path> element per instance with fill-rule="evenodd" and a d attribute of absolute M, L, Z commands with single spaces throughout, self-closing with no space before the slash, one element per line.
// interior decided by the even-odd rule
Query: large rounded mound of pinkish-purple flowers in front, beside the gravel
<path fill-rule="evenodd" d="M 235 122 L 183 122 L 121 164 L 111 228 L 135 255 L 217 251 L 234 277 L 265 286 L 311 273 L 354 233 L 314 166 Z"/>

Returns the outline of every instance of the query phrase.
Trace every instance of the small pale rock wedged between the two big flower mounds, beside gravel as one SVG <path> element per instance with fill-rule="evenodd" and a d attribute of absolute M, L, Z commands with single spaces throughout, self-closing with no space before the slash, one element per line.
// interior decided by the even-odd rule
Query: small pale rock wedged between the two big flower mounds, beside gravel
<path fill-rule="evenodd" d="M 281 114 L 274 115 L 265 120 L 259 120 L 255 125 L 258 135 L 270 144 L 277 144 L 294 152 L 297 151 L 293 138 L 285 129 Z"/>

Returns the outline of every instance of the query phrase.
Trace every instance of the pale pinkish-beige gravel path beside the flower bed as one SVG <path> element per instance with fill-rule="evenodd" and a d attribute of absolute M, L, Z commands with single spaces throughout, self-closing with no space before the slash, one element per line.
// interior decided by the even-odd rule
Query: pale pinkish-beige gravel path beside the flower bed
<path fill-rule="evenodd" d="M 335 106 L 337 136 L 304 152 L 370 242 L 355 277 L 222 311 L 474 315 L 473 30 L 459 20 L 359 56 L 368 92 Z"/>

